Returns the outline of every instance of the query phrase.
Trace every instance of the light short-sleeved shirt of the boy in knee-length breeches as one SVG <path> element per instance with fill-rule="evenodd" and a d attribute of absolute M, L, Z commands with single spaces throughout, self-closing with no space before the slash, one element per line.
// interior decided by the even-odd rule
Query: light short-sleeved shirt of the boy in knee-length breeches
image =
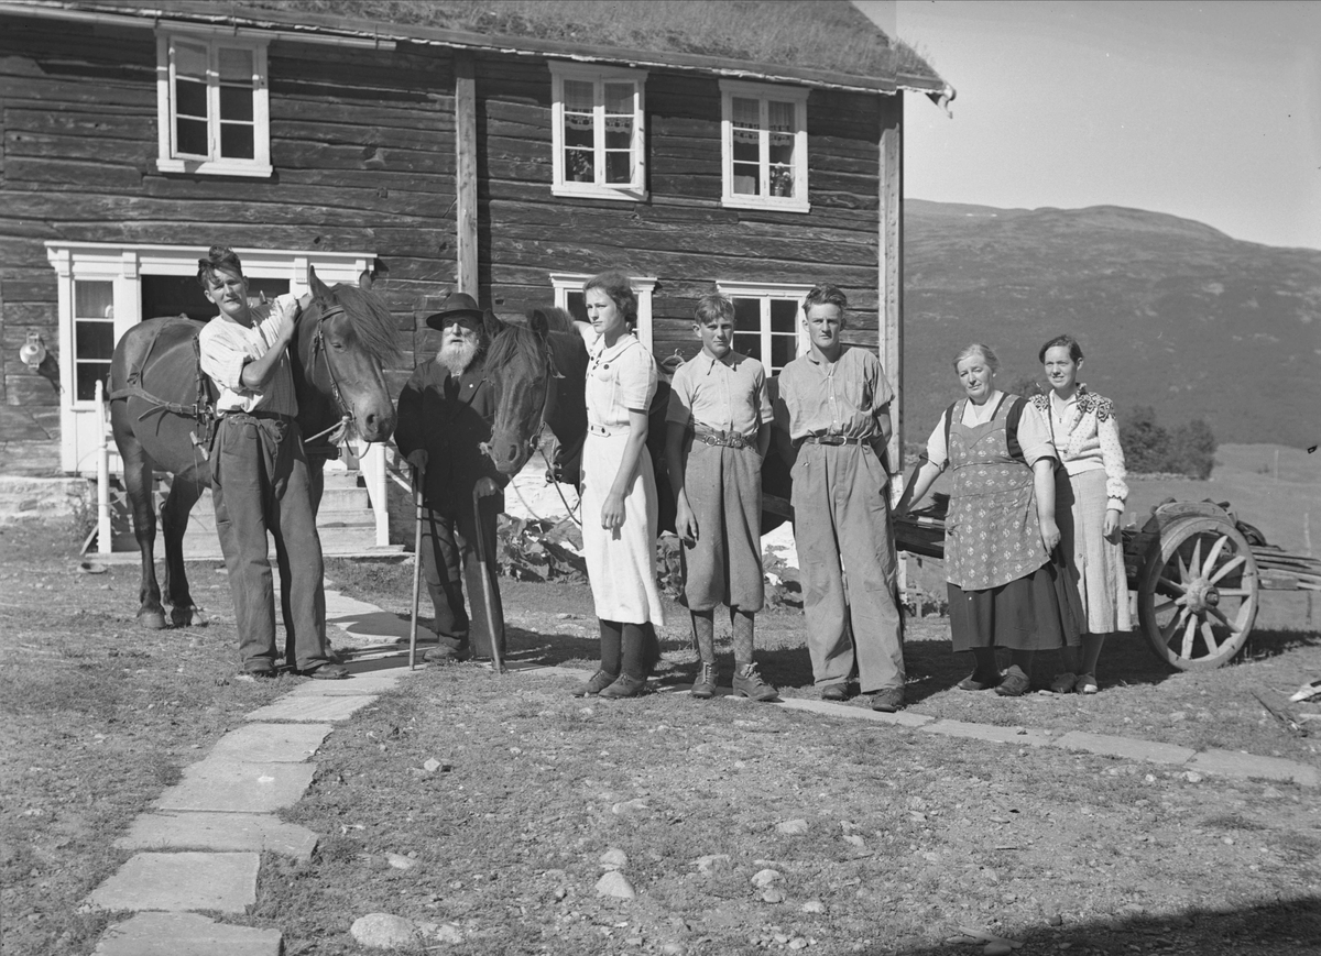
<path fill-rule="evenodd" d="M 666 421 L 752 436 L 771 420 L 766 370 L 736 351 L 716 359 L 697 353 L 674 374 Z"/>

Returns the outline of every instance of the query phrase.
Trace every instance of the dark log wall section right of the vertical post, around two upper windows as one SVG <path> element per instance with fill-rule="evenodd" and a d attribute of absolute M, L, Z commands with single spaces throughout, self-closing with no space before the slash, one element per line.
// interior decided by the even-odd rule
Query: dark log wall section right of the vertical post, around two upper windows
<path fill-rule="evenodd" d="M 811 213 L 720 205 L 720 85 L 650 71 L 647 202 L 551 194 L 551 74 L 535 58 L 477 61 L 481 281 L 497 310 L 552 301 L 550 272 L 657 276 L 658 357 L 696 350 L 695 300 L 717 280 L 835 281 L 856 306 L 849 341 L 877 342 L 880 125 L 890 98 L 814 90 Z M 897 103 L 898 98 L 893 98 Z"/>

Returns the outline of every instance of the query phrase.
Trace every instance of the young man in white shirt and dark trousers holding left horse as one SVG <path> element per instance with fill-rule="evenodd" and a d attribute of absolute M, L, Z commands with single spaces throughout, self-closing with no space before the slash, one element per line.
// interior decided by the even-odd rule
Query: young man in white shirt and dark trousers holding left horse
<path fill-rule="evenodd" d="M 254 677 L 276 675 L 269 531 L 280 566 L 285 663 L 309 677 L 347 677 L 347 668 L 330 660 L 325 636 L 321 539 L 289 371 L 299 301 L 280 296 L 251 305 L 239 257 L 223 246 L 198 260 L 197 279 L 221 313 L 202 329 L 198 350 L 202 371 L 219 391 L 211 496 L 243 669 Z"/>

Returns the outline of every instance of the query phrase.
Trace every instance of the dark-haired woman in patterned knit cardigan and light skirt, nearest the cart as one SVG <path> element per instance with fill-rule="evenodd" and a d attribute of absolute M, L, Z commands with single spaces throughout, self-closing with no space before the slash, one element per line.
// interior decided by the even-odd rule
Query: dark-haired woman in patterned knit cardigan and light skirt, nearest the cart
<path fill-rule="evenodd" d="M 1038 355 L 1050 391 L 1032 403 L 1050 424 L 1062 469 L 1055 471 L 1055 514 L 1059 549 L 1078 586 L 1083 614 L 1082 651 L 1066 647 L 1065 672 L 1055 693 L 1096 693 L 1096 659 L 1107 634 L 1129 630 L 1128 580 L 1119 519 L 1128 499 L 1124 449 L 1110 399 L 1078 384 L 1082 346 L 1071 335 L 1057 335 Z"/>

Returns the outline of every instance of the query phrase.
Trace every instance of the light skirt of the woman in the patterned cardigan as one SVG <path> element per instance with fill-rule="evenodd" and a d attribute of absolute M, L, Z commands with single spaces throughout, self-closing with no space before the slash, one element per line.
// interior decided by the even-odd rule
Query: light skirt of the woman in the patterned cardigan
<path fill-rule="evenodd" d="M 1059 549 L 1082 598 L 1083 631 L 1112 634 L 1132 629 L 1124 545 L 1107 541 L 1106 473 L 1102 469 L 1067 475 L 1055 473 L 1055 519 Z"/>

